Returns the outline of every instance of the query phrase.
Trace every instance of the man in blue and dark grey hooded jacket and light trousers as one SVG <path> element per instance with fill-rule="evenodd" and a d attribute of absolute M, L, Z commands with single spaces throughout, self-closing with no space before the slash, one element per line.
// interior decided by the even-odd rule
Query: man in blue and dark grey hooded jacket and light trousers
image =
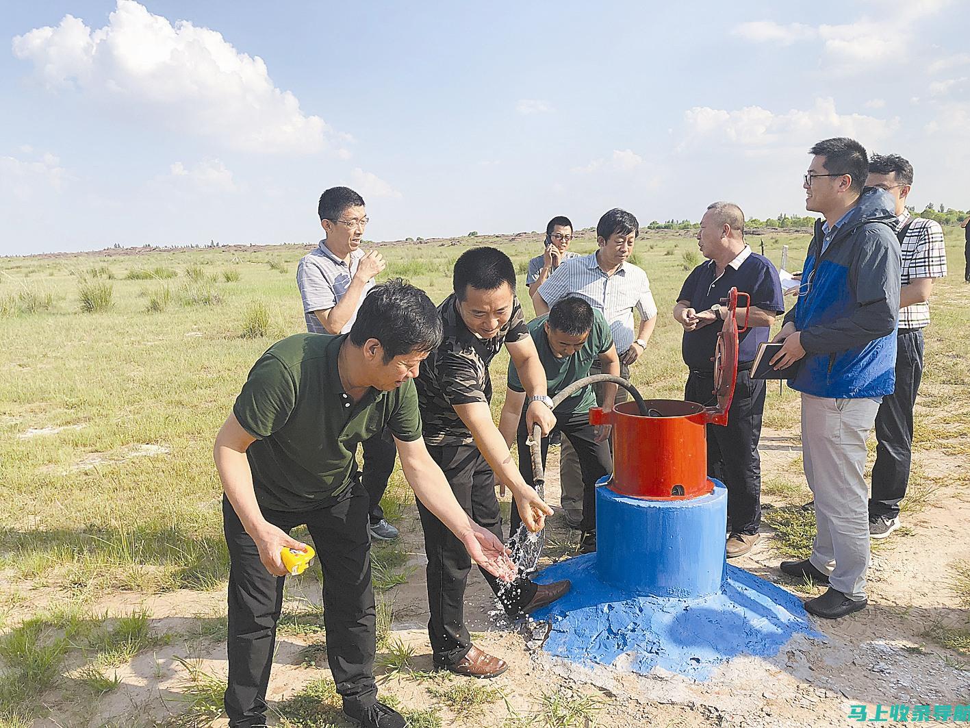
<path fill-rule="evenodd" d="M 869 565 L 865 441 L 895 386 L 900 251 L 889 192 L 862 184 L 868 157 L 855 140 L 809 150 L 805 207 L 821 213 L 802 269 L 798 300 L 775 337 L 776 369 L 801 360 L 790 381 L 801 392 L 805 477 L 815 496 L 812 555 L 782 571 L 828 583 L 805 604 L 834 619 L 866 606 Z"/>

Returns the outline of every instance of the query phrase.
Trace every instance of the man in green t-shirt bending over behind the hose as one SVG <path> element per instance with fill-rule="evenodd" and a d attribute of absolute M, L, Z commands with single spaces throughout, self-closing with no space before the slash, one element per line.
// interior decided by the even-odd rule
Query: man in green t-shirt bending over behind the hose
<path fill-rule="evenodd" d="M 599 359 L 603 374 L 620 376 L 620 357 L 613 346 L 613 336 L 603 315 L 578 296 L 568 296 L 557 301 L 548 315 L 538 316 L 529 322 L 529 333 L 535 342 L 535 350 L 546 374 L 549 396 L 555 397 L 569 384 L 590 376 L 593 362 Z M 603 385 L 603 409 L 612 410 L 616 400 L 616 384 Z M 533 485 L 533 460 L 527 441 L 532 435 L 527 431 L 525 417 L 521 416 L 526 392 L 519 381 L 514 362 L 508 365 L 508 386 L 505 404 L 501 409 L 499 429 L 505 443 L 511 447 L 518 442 L 519 472 L 523 479 Z M 580 548 L 584 553 L 597 547 L 597 480 L 613 471 L 613 458 L 609 450 L 609 426 L 601 428 L 590 424 L 591 407 L 596 407 L 597 397 L 593 385 L 580 389 L 566 397 L 553 411 L 556 427 L 562 431 L 579 458 L 583 476 L 583 517 Z M 549 438 L 542 438 L 542 465 L 545 466 Z M 514 499 L 513 499 L 514 501 Z M 519 513 L 512 506 L 511 534 L 514 535 L 521 522 Z"/>

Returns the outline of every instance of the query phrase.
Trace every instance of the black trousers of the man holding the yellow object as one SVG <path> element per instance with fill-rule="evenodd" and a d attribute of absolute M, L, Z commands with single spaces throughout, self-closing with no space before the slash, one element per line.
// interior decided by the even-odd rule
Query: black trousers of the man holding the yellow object
<path fill-rule="evenodd" d="M 377 696 L 373 679 L 374 598 L 368 496 L 359 485 L 333 505 L 302 513 L 263 511 L 283 531 L 307 525 L 323 569 L 323 623 L 327 660 L 344 706 L 366 709 Z M 225 708 L 229 725 L 266 723 L 266 689 L 273 667 L 276 622 L 283 581 L 259 560 L 259 551 L 229 500 L 222 499 L 229 546 L 229 682 Z"/>

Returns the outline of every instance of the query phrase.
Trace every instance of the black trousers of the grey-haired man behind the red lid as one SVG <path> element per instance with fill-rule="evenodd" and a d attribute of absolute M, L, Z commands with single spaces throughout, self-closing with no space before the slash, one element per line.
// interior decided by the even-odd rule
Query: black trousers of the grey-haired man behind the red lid
<path fill-rule="evenodd" d="M 714 403 L 714 375 L 691 372 L 684 398 L 701 405 Z M 751 379 L 738 367 L 727 425 L 707 425 L 707 475 L 727 487 L 727 518 L 731 532 L 756 534 L 761 527 L 761 417 L 764 380 Z"/>

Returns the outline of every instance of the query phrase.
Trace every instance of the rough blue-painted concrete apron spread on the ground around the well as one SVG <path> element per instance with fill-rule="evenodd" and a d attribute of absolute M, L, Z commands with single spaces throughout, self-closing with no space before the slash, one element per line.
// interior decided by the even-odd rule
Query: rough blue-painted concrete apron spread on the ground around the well
<path fill-rule="evenodd" d="M 587 666 L 640 675 L 661 668 L 703 680 L 737 655 L 776 655 L 797 633 L 824 639 L 800 599 L 733 566 L 720 593 L 693 600 L 641 596 L 606 584 L 595 553 L 550 566 L 535 580 L 558 579 L 570 579 L 572 589 L 532 617 L 550 624 L 546 652 Z"/>

